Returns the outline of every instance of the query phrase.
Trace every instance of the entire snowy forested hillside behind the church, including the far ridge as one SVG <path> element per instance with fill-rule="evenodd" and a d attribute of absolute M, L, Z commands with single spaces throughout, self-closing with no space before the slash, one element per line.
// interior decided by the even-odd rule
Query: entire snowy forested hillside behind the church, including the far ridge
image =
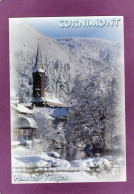
<path fill-rule="evenodd" d="M 70 95 L 77 74 L 84 78 L 105 66 L 122 63 L 119 43 L 91 38 L 52 39 L 26 23 L 10 20 L 11 97 L 19 96 L 24 100 L 32 96 L 32 68 L 38 43 L 46 91 L 61 101 Z"/>

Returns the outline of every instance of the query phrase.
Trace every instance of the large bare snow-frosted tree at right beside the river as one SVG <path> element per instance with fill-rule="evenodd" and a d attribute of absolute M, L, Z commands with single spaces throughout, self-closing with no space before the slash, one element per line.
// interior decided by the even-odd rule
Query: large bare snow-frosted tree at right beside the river
<path fill-rule="evenodd" d="M 66 138 L 69 143 L 84 143 L 91 148 L 110 149 L 117 133 L 119 120 L 119 83 L 117 68 L 103 68 L 86 79 L 77 75 L 72 99 L 77 101 L 67 122 Z"/>

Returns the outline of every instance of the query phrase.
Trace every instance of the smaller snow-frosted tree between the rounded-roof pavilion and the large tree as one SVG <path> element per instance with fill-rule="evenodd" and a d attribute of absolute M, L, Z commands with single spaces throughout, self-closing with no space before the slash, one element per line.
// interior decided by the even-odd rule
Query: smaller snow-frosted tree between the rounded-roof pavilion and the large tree
<path fill-rule="evenodd" d="M 55 124 L 54 118 L 47 114 L 44 108 L 34 108 L 32 117 L 37 123 L 37 139 L 33 148 L 38 152 L 46 149 L 55 150 L 66 145 L 63 122 Z"/>

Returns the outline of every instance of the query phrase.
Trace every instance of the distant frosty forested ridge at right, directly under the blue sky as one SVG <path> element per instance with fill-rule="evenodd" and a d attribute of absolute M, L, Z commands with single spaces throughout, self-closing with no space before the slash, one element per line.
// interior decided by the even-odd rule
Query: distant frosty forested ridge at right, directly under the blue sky
<path fill-rule="evenodd" d="M 122 43 L 83 37 L 57 38 L 56 40 L 77 55 L 77 58 L 92 58 L 106 65 L 122 65 L 123 63 Z"/>

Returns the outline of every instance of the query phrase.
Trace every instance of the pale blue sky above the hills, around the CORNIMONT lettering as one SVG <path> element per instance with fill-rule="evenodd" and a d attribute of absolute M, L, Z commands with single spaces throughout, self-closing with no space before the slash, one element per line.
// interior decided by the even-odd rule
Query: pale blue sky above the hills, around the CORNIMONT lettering
<path fill-rule="evenodd" d="M 84 19 L 108 19 L 120 18 L 118 26 L 103 27 L 68 27 L 61 28 L 61 20 L 84 20 Z M 121 16 L 96 16 L 96 17 L 36 17 L 36 18 L 19 18 L 24 22 L 32 25 L 36 30 L 51 38 L 57 37 L 90 37 L 100 38 L 115 42 L 124 41 L 124 25 Z"/>

